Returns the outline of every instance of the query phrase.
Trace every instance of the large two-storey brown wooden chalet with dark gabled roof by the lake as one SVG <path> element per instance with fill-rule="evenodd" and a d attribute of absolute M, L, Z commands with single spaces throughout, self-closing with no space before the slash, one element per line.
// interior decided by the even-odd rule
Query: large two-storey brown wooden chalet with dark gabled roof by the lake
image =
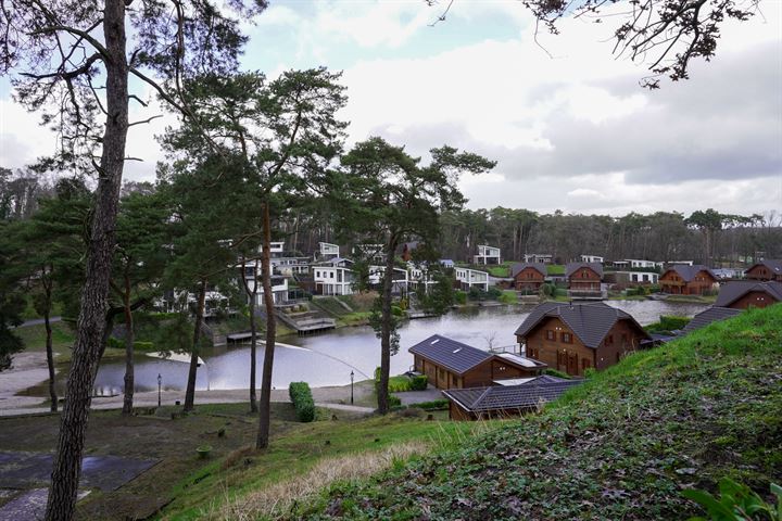
<path fill-rule="evenodd" d="M 516 330 L 526 355 L 571 376 L 605 369 L 652 336 L 621 309 L 604 303 L 546 302 Z"/>

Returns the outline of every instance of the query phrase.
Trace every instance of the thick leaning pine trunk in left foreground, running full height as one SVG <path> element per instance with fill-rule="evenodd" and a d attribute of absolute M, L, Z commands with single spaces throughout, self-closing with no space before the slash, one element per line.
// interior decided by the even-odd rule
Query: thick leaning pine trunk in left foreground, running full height
<path fill-rule="evenodd" d="M 49 521 L 71 520 L 76 506 L 90 394 L 103 351 L 103 328 L 114 251 L 114 225 L 125 163 L 128 129 L 125 1 L 106 0 L 103 13 L 103 37 L 105 49 L 111 56 L 104 60 L 108 116 L 76 343 L 65 392 L 65 406 L 60 417 L 60 434 L 47 501 L 46 519 Z"/>

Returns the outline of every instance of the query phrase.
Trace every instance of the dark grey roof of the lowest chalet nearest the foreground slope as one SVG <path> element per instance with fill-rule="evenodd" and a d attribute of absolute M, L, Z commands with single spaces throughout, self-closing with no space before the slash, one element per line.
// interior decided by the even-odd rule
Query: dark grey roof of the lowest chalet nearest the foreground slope
<path fill-rule="evenodd" d="M 539 379 L 535 379 L 519 385 L 450 389 L 442 393 L 449 399 L 456 402 L 462 408 L 472 412 L 531 409 L 541 403 L 558 398 L 565 391 L 579 383 L 581 383 L 581 380 L 539 382 Z"/>

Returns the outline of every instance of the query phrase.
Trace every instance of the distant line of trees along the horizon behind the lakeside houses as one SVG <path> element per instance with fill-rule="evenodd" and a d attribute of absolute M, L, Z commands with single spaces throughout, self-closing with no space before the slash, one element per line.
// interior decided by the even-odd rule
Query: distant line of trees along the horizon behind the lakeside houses
<path fill-rule="evenodd" d="M 151 192 L 148 182 L 128 181 L 123 195 Z M 24 219 L 38 207 L 38 200 L 51 198 L 54 182 L 28 170 L 0 167 L 0 219 Z M 286 247 L 311 253 L 318 242 L 341 242 L 340 230 L 323 209 L 319 215 L 288 215 L 280 223 Z M 782 257 L 782 214 L 768 212 L 749 216 L 720 214 L 714 209 L 685 216 L 679 212 L 651 215 L 540 214 L 529 209 L 495 207 L 463 209 L 441 215 L 440 243 L 443 257 L 468 260 L 478 244 L 502 249 L 503 259 L 521 259 L 525 253 L 553 255 L 566 263 L 582 254 L 606 259 L 694 260 L 709 265 L 740 265 L 757 256 Z M 345 244 L 343 244 L 344 246 Z M 344 254 L 350 252 L 344 251 Z"/>

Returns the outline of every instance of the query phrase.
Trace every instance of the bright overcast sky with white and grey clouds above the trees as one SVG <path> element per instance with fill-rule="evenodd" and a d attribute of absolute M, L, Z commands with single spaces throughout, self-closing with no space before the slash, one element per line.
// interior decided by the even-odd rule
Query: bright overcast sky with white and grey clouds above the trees
<path fill-rule="evenodd" d="M 611 55 L 610 20 L 567 21 L 540 36 L 543 50 L 520 2 L 455 0 L 430 26 L 441 9 L 273 0 L 247 27 L 243 65 L 272 77 L 344 71 L 349 144 L 382 136 L 425 157 L 446 143 L 496 160 L 492 174 L 462 180 L 472 208 L 782 211 L 782 1 L 726 24 L 714 61 L 656 91 L 639 87 L 643 64 Z M 4 79 L 0 116 L 0 165 L 54 150 Z M 131 128 L 128 154 L 146 161 L 129 163 L 126 178 L 154 179 L 164 128 Z"/>

